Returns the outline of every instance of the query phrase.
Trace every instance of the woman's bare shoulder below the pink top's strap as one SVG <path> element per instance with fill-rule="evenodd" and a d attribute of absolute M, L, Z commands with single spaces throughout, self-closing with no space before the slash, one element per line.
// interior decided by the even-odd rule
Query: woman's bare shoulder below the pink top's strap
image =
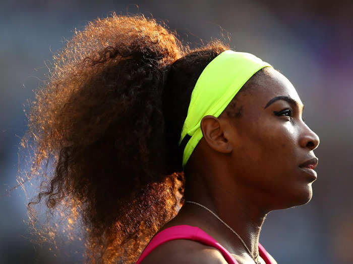
<path fill-rule="evenodd" d="M 227 264 L 221 252 L 197 241 L 177 239 L 165 242 L 149 253 L 141 264 Z"/>

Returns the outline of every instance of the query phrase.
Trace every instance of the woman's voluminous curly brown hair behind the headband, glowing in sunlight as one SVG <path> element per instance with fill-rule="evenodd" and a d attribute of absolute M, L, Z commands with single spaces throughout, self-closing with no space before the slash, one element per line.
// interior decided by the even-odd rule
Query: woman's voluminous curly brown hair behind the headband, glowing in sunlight
<path fill-rule="evenodd" d="M 53 164 L 50 175 L 37 173 L 28 210 L 44 199 L 50 210 L 77 212 L 87 262 L 135 262 L 183 203 L 178 141 L 191 93 L 226 49 L 213 40 L 192 50 L 143 15 L 113 14 L 75 31 L 27 116 L 31 173 Z"/>

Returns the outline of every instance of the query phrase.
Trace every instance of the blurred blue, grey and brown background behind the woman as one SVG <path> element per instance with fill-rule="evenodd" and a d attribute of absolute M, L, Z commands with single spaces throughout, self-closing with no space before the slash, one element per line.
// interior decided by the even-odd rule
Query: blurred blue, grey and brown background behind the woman
<path fill-rule="evenodd" d="M 138 5 L 138 7 L 136 5 Z M 109 12 L 143 13 L 193 47 L 230 38 L 295 85 L 307 124 L 321 140 L 312 201 L 271 212 L 260 242 L 280 263 L 353 263 L 353 2 L 351 1 L 2 1 L 0 8 L 0 263 L 80 263 L 80 242 L 38 246 L 15 186 L 24 109 L 45 79 L 52 52 L 75 28 Z M 73 250 L 73 248 L 75 248 Z M 66 251 L 73 253 L 66 253 Z"/>

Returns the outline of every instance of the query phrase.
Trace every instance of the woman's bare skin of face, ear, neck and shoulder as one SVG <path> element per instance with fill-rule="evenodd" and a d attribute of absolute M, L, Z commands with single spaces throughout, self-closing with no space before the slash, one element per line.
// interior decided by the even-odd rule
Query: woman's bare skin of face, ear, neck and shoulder
<path fill-rule="evenodd" d="M 244 239 L 253 256 L 258 253 L 267 213 L 311 200 L 316 179 L 299 165 L 315 157 L 313 150 L 319 145 L 319 137 L 302 120 L 303 103 L 293 85 L 272 68 L 265 72 L 252 83 L 250 92 L 237 95 L 237 105 L 242 106 L 240 118 L 223 111 L 218 118 L 202 119 L 203 138 L 185 169 L 186 200 L 217 214 Z M 277 100 L 266 107 L 278 96 L 289 97 L 296 104 Z M 204 230 L 240 264 L 254 263 L 239 238 L 200 206 L 185 203 L 161 230 L 181 224 Z M 199 263 L 200 259 L 226 263 L 217 249 L 183 239 L 158 246 L 142 263 L 165 259 L 170 259 L 169 263 Z"/>

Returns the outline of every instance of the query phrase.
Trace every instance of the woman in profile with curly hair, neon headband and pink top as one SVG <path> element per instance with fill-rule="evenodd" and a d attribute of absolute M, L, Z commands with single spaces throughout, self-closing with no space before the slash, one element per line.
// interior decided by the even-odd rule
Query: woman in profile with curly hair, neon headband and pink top
<path fill-rule="evenodd" d="M 80 213 L 91 262 L 275 263 L 261 226 L 310 201 L 319 144 L 281 73 L 143 16 L 89 23 L 54 63 L 29 114 L 34 171 L 54 171 L 30 208 Z"/>

